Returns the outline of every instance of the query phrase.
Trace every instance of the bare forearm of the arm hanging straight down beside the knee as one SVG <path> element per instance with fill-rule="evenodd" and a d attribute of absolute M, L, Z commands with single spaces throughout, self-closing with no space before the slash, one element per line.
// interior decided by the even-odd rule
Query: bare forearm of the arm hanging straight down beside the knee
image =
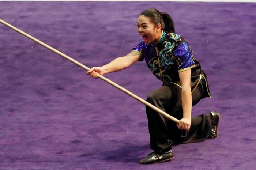
<path fill-rule="evenodd" d="M 191 120 L 192 95 L 191 95 L 190 86 L 182 87 L 181 100 L 182 100 L 183 118 L 188 118 L 189 120 Z"/>

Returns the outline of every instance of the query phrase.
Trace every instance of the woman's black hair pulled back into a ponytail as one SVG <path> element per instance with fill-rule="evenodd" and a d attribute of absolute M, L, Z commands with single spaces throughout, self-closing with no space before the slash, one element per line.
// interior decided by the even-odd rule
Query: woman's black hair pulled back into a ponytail
<path fill-rule="evenodd" d="M 167 12 L 159 12 L 155 8 L 144 10 L 140 15 L 150 18 L 151 22 L 157 26 L 161 24 L 162 30 L 170 33 L 175 33 L 174 23 L 172 17 Z"/>

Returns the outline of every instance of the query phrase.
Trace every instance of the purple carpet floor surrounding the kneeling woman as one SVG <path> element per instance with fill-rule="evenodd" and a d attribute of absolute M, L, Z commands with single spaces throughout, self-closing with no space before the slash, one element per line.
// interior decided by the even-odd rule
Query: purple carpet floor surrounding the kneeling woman
<path fill-rule="evenodd" d="M 151 7 L 172 15 L 206 72 L 212 98 L 192 114 L 220 112 L 219 137 L 140 165 L 145 106 L 0 24 L 0 170 L 255 169 L 256 3 L 0 1 L 0 19 L 93 67 L 138 44 Z M 106 77 L 144 99 L 162 85 L 144 61 Z"/>

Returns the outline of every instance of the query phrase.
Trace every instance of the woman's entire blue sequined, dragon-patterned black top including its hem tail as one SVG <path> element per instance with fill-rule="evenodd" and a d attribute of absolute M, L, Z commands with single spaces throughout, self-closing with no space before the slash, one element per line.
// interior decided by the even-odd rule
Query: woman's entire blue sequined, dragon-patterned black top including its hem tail
<path fill-rule="evenodd" d="M 132 51 L 140 54 L 139 61 L 145 59 L 152 73 L 164 84 L 174 83 L 181 87 L 178 73 L 191 69 L 192 92 L 199 84 L 205 89 L 205 97 L 211 97 L 206 75 L 194 58 L 188 42 L 178 34 L 162 31 L 157 44 L 146 44 L 143 40 Z"/>

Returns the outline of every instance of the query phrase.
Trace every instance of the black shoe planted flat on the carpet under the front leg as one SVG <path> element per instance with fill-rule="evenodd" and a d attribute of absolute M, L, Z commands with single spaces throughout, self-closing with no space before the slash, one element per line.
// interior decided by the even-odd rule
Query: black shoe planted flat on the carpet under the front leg
<path fill-rule="evenodd" d="M 154 151 L 149 155 L 147 155 L 146 158 L 140 160 L 140 163 L 142 164 L 160 163 L 160 162 L 170 161 L 173 158 L 174 156 L 173 156 L 172 150 L 165 153 L 157 153 L 156 151 Z"/>

